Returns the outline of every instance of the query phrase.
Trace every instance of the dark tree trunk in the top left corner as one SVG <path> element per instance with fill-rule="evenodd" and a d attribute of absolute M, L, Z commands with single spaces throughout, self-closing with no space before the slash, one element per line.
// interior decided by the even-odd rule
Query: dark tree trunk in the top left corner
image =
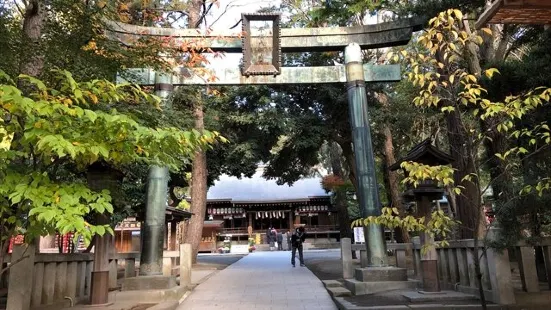
<path fill-rule="evenodd" d="M 44 55 L 41 48 L 42 30 L 46 9 L 44 1 L 28 2 L 23 15 L 22 49 L 19 63 L 21 74 L 38 77 L 44 68 Z"/>

